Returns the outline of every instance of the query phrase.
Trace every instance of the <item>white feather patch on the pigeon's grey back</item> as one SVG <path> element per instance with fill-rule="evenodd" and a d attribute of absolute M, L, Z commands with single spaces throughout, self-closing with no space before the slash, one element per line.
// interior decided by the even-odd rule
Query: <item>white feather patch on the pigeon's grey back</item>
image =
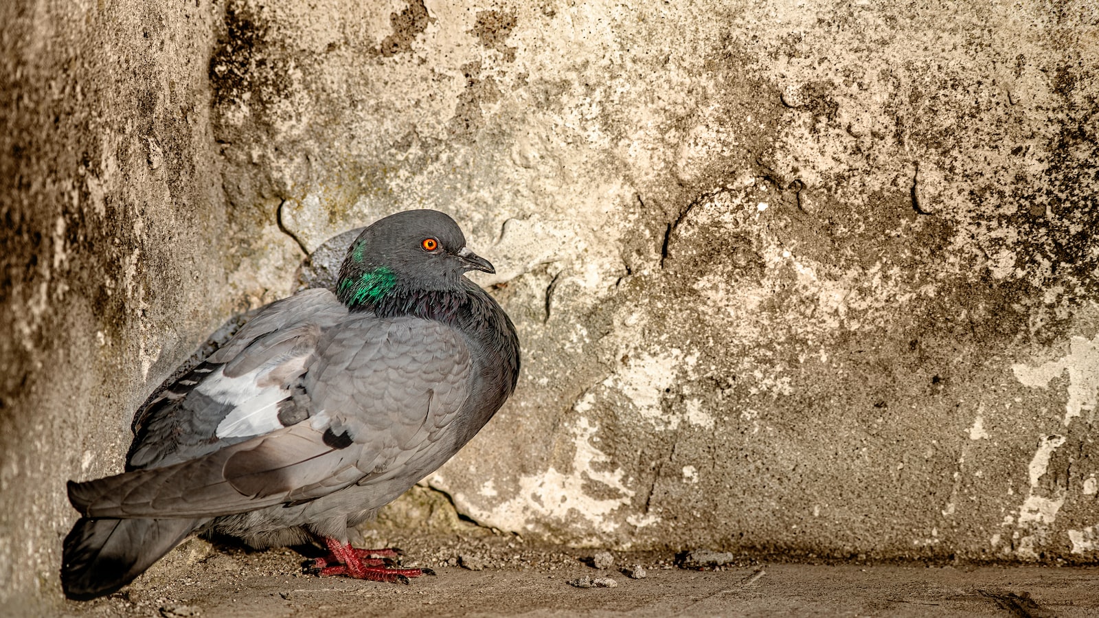
<path fill-rule="evenodd" d="M 300 362 L 300 361 L 299 361 Z M 225 377 L 223 367 L 202 380 L 198 391 L 220 404 L 232 406 L 232 411 L 218 424 L 218 438 L 246 438 L 281 429 L 278 402 L 290 391 L 277 384 L 259 386 L 271 367 L 262 366 L 238 377 Z"/>

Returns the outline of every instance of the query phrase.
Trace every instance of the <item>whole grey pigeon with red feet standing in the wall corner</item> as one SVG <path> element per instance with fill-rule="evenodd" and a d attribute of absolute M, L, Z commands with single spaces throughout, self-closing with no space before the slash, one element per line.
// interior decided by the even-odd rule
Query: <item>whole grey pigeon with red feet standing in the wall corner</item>
<path fill-rule="evenodd" d="M 320 575 L 402 581 L 347 531 L 449 460 L 500 409 L 519 338 L 469 271 L 493 273 L 433 210 L 380 219 L 333 289 L 267 305 L 134 415 L 125 472 L 69 481 L 62 587 L 129 584 L 192 533 L 322 543 Z"/>

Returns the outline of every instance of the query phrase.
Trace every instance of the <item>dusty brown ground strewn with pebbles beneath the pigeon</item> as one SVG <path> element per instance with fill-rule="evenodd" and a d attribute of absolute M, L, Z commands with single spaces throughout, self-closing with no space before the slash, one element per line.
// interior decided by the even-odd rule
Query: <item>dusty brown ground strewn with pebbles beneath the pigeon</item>
<path fill-rule="evenodd" d="M 1080 567 L 786 564 L 676 566 L 659 553 L 532 547 L 510 536 L 393 537 L 404 564 L 437 576 L 411 585 L 302 573 L 293 550 L 249 552 L 189 541 L 122 593 L 67 603 L 63 616 L 1095 616 L 1099 571 Z M 307 552 L 308 553 L 308 552 Z M 481 567 L 473 571 L 468 564 Z M 641 564 L 644 578 L 622 567 Z M 578 577 L 614 587 L 578 588 Z"/>

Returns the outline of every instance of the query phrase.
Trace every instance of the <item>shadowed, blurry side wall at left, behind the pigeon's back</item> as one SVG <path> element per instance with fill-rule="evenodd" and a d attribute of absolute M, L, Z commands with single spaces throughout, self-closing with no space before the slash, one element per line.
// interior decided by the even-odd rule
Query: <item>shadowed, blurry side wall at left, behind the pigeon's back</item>
<path fill-rule="evenodd" d="M 290 289 L 300 250 L 256 231 L 275 209 L 224 206 L 221 21 L 208 0 L 0 3 L 0 615 L 60 596 L 65 481 L 121 470 L 148 391 Z"/>

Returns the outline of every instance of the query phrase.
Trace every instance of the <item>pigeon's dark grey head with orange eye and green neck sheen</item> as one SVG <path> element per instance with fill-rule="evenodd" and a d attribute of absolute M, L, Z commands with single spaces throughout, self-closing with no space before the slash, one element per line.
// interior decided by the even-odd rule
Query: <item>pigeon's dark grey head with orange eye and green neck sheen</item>
<path fill-rule="evenodd" d="M 469 251 L 454 219 L 436 210 L 406 210 L 355 239 L 340 267 L 336 295 L 352 309 L 374 309 L 423 293 L 458 293 L 468 271 L 496 272 Z"/>

